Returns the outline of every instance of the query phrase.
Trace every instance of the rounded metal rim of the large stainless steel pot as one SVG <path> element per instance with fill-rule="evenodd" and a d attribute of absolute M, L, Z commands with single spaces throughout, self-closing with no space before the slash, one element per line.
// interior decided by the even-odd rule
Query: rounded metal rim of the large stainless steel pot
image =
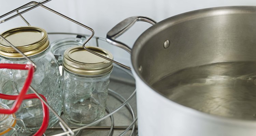
<path fill-rule="evenodd" d="M 159 33 L 160 31 L 166 29 L 167 27 L 180 23 L 182 21 L 187 21 L 191 19 L 201 18 L 205 16 L 216 16 L 216 15 L 225 15 L 225 14 L 237 14 L 237 13 L 255 13 L 256 6 L 222 6 L 222 7 L 212 7 L 212 8 L 204 8 L 200 10 L 190 11 L 186 13 L 182 13 L 179 15 L 175 15 L 172 17 L 169 17 L 165 20 L 162 20 L 152 27 L 148 28 L 146 31 L 144 31 L 139 38 L 136 40 L 136 42 L 133 45 L 132 52 L 131 52 L 131 63 L 132 63 L 132 71 L 133 75 L 135 75 L 137 78 L 141 80 L 146 86 L 150 87 L 151 90 L 157 92 L 159 96 L 162 97 L 162 99 L 166 99 L 166 101 L 169 101 L 168 104 L 172 104 L 172 106 L 175 106 L 176 108 L 179 108 L 180 110 L 184 111 L 185 113 L 189 113 L 191 115 L 194 115 L 195 117 L 203 117 L 205 119 L 211 120 L 211 121 L 217 121 L 217 122 L 223 122 L 228 123 L 229 125 L 238 125 L 243 127 L 256 127 L 256 121 L 252 120 L 243 120 L 243 119 L 234 119 L 234 118 L 228 118 L 228 117 L 222 117 L 217 115 L 210 115 L 201 111 L 197 111 L 196 109 L 181 105 L 179 103 L 176 103 L 170 99 L 168 99 L 165 95 L 161 94 L 161 92 L 154 89 L 150 84 L 148 84 L 142 77 L 140 73 L 140 65 L 137 63 L 137 58 L 141 52 L 141 49 L 148 41 L 151 39 L 156 33 Z M 254 10 L 253 10 L 254 9 Z M 168 25 L 167 25 L 168 24 Z"/>

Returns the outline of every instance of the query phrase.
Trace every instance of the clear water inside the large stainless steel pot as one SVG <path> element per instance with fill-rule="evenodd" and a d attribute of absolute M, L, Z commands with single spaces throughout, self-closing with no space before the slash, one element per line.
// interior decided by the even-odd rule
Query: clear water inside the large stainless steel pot
<path fill-rule="evenodd" d="M 208 114 L 256 120 L 255 68 L 256 62 L 220 62 L 190 67 L 152 86 L 170 100 Z"/>

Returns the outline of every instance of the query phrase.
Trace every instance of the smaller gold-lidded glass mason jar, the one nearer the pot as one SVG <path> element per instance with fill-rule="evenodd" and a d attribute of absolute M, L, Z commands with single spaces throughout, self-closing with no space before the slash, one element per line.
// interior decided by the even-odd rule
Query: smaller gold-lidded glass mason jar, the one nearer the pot
<path fill-rule="evenodd" d="M 102 48 L 87 48 L 113 59 L 113 55 Z M 85 125 L 103 117 L 112 62 L 83 47 L 72 47 L 64 52 L 62 65 L 65 117 L 76 125 Z"/>

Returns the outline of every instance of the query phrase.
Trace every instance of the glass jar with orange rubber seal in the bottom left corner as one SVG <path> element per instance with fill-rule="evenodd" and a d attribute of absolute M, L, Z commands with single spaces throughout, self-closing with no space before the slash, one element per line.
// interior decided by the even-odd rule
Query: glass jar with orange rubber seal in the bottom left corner
<path fill-rule="evenodd" d="M 0 109 L 10 109 L 7 105 L 0 103 Z M 0 114 L 0 135 L 1 136 L 11 136 L 14 130 L 8 126 L 15 128 L 16 120 L 15 114 Z"/>

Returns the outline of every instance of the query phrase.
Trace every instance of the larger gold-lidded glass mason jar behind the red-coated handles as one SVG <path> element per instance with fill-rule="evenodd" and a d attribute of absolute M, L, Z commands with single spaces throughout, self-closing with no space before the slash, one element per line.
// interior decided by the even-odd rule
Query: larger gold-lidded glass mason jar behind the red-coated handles
<path fill-rule="evenodd" d="M 50 52 L 49 40 L 45 30 L 38 27 L 19 27 L 1 34 L 10 43 L 27 55 L 37 66 L 33 74 L 31 86 L 44 95 L 55 111 L 60 115 L 62 107 L 60 74 L 58 63 Z M 27 64 L 29 63 L 21 54 L 0 39 L 0 63 Z M 27 70 L 0 69 L 0 92 L 7 95 L 18 95 L 27 78 Z M 27 94 L 33 93 L 28 90 Z M 14 101 L 2 100 L 9 107 Z M 16 118 L 22 119 L 27 131 L 37 131 L 43 120 L 43 110 L 39 99 L 23 100 Z M 53 126 L 58 118 L 50 111 L 48 127 Z M 18 121 L 17 126 L 22 127 Z M 22 127 L 24 128 L 24 127 Z"/>

